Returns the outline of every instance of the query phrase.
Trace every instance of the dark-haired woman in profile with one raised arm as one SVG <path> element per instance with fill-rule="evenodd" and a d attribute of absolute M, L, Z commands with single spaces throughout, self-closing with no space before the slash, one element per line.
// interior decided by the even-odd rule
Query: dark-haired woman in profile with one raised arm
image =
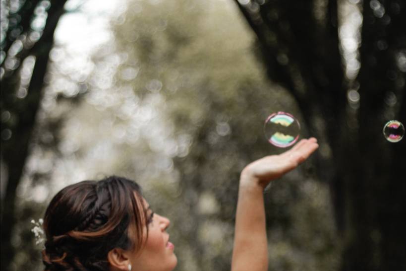
<path fill-rule="evenodd" d="M 241 172 L 232 271 L 266 271 L 263 190 L 317 149 L 315 138 L 266 156 Z M 177 259 L 166 229 L 133 181 L 112 176 L 62 189 L 44 218 L 46 271 L 171 271 Z"/>

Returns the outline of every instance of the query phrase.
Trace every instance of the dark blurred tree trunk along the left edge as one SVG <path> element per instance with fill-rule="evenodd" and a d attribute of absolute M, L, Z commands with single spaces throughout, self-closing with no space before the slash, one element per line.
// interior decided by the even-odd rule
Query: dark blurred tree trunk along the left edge
<path fill-rule="evenodd" d="M 9 27 L 1 42 L 1 53 L 6 53 L 1 63 L 1 115 L 6 116 L 1 120 L 1 158 L 8 176 L 7 180 L 1 180 L 6 182 L 1 201 L 1 270 L 4 271 L 10 270 L 15 255 L 11 238 L 16 222 L 16 190 L 29 154 L 49 53 L 53 47 L 58 20 L 65 12 L 65 2 L 52 1 L 50 6 L 48 1 L 23 2 L 17 11 L 8 14 Z M 35 11 L 36 8 L 39 10 Z M 43 29 L 32 29 L 30 24 L 41 10 L 48 13 L 46 24 Z M 33 38 L 36 35 L 40 36 L 38 40 Z M 19 51 L 13 49 L 16 43 L 22 44 Z M 22 85 L 20 73 L 24 68 L 21 64 L 30 56 L 35 57 L 31 79 L 26 93 L 18 94 Z"/>

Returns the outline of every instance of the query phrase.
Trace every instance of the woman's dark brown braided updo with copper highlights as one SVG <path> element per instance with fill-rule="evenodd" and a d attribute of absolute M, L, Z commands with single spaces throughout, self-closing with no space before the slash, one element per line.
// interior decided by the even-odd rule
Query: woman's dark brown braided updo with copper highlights
<path fill-rule="evenodd" d="M 141 248 L 146 213 L 141 188 L 122 177 L 65 187 L 45 212 L 45 271 L 108 271 L 109 251 Z"/>

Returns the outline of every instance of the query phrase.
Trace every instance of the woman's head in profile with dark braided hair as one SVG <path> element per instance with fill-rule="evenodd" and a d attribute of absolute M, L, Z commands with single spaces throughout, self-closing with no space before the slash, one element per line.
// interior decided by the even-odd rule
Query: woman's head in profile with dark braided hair
<path fill-rule="evenodd" d="M 45 270 L 116 271 L 128 270 L 129 264 L 133 271 L 172 270 L 176 257 L 168 226 L 133 181 L 112 176 L 70 185 L 45 213 Z M 156 257 L 162 266 L 149 261 Z"/>

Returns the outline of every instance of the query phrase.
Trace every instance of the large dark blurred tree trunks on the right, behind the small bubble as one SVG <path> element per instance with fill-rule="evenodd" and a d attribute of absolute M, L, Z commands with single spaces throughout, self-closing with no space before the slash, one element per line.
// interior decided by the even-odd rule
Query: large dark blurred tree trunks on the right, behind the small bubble
<path fill-rule="evenodd" d="M 361 68 L 352 82 L 340 54 L 337 1 L 236 3 L 269 78 L 290 91 L 319 137 L 319 171 L 330 183 L 343 240 L 342 270 L 405 270 L 406 140 L 389 143 L 382 135 L 387 121 L 406 121 L 405 2 L 364 0 Z M 350 87 L 359 104 L 348 103 Z"/>

